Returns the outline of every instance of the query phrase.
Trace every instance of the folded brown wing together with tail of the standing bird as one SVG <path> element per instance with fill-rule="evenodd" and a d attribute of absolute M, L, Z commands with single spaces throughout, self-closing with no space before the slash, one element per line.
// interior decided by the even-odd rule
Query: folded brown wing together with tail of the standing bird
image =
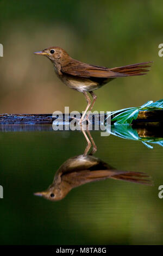
<path fill-rule="evenodd" d="M 145 75 L 147 68 L 149 68 L 152 62 L 136 63 L 127 66 L 120 66 L 118 68 L 108 69 L 103 66 L 89 65 L 78 60 L 71 60 L 65 66 L 62 66 L 61 72 L 64 74 L 80 77 L 103 77 L 103 78 L 115 78 L 124 76 L 137 76 Z"/>

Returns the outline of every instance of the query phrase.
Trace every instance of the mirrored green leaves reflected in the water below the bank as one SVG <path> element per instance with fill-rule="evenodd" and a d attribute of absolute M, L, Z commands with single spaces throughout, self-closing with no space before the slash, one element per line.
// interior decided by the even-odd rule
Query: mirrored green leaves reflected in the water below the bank
<path fill-rule="evenodd" d="M 118 123 L 116 125 L 111 125 L 111 134 L 123 139 L 141 141 L 144 145 L 146 145 L 146 147 L 151 149 L 153 148 L 153 146 L 149 145 L 148 143 L 158 144 L 163 147 L 163 138 L 139 137 L 137 131 L 134 130 L 131 125 L 124 125 Z"/>

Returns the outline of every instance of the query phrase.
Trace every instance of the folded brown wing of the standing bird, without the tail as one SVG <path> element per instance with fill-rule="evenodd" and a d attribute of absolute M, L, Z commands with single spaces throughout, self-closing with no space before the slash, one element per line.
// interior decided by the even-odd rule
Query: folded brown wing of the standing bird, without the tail
<path fill-rule="evenodd" d="M 103 66 L 93 66 L 86 63 L 71 62 L 66 66 L 61 68 L 61 72 L 67 75 L 80 76 L 80 77 L 123 77 L 128 76 L 128 74 L 122 74 L 116 71 L 111 71 Z"/>

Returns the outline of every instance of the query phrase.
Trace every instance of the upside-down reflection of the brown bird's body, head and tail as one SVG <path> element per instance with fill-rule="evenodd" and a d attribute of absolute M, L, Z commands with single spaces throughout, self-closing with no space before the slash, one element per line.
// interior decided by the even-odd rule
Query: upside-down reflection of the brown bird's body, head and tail
<path fill-rule="evenodd" d="M 35 195 L 57 201 L 63 199 L 74 187 L 108 178 L 152 185 L 147 179 L 148 174 L 116 170 L 95 156 L 79 155 L 64 162 L 55 173 L 52 185 Z"/>

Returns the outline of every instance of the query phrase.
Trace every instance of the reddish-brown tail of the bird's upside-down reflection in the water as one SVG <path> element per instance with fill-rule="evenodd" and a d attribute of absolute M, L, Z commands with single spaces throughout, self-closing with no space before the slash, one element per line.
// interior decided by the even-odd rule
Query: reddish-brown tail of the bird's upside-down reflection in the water
<path fill-rule="evenodd" d="M 118 173 L 119 172 L 119 173 Z M 148 186 L 152 186 L 152 180 L 150 179 L 149 175 L 146 173 L 141 172 L 123 172 L 121 170 L 116 170 L 115 175 L 112 175 L 110 178 L 116 179 L 116 180 L 125 180 L 140 184 L 145 184 Z"/>

